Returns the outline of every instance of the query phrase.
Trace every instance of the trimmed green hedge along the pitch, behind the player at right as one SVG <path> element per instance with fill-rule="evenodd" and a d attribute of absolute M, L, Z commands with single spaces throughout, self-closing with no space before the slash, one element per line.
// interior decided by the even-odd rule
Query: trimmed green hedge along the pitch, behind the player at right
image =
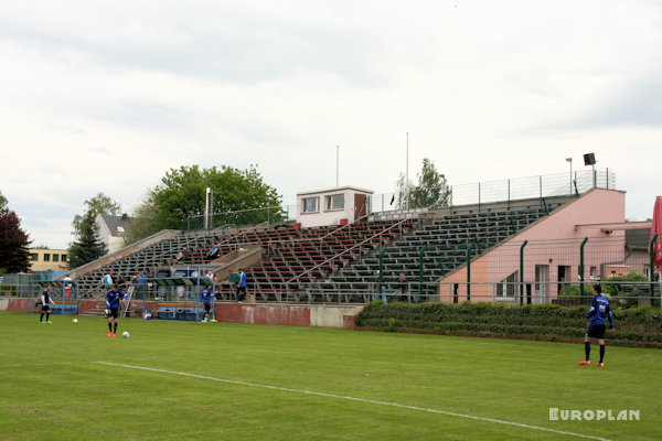
<path fill-rule="evenodd" d="M 357 327 L 389 332 L 482 335 L 576 342 L 586 331 L 586 306 L 490 303 L 369 303 L 354 319 Z M 662 347 L 662 311 L 648 306 L 612 311 L 616 332 L 609 344 Z"/>

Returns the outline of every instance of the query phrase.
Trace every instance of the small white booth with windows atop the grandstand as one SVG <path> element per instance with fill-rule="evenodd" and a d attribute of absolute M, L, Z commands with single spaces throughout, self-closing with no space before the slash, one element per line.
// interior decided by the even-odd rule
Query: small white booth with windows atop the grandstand
<path fill-rule="evenodd" d="M 364 214 L 365 207 L 356 208 L 356 195 L 373 194 L 373 191 L 356 186 L 340 186 L 297 193 L 297 222 L 301 227 L 318 227 L 352 223 L 356 213 Z"/>

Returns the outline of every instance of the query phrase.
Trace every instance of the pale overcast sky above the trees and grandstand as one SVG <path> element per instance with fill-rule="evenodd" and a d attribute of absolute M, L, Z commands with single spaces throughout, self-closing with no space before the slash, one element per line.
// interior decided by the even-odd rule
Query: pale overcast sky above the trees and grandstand
<path fill-rule="evenodd" d="M 659 1 L 0 0 L 0 192 L 33 246 L 171 168 L 257 164 L 284 203 L 598 168 L 662 194 Z"/>

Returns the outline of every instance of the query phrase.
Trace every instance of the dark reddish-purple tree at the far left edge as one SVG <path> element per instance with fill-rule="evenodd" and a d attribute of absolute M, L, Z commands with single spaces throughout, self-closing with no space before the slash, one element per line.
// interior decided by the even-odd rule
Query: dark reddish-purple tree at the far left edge
<path fill-rule="evenodd" d="M 0 275 L 30 270 L 29 235 L 21 228 L 21 219 L 7 207 L 0 193 Z"/>

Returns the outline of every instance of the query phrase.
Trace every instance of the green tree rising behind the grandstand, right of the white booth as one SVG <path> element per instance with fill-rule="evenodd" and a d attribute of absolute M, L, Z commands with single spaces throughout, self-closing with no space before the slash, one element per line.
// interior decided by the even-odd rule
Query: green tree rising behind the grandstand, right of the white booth
<path fill-rule="evenodd" d="M 446 183 L 446 176 L 437 171 L 433 161 L 424 158 L 423 168 L 417 176 L 418 185 L 409 183 L 409 208 L 447 206 L 449 204 L 450 187 Z M 407 206 L 405 176 L 401 174 L 395 185 L 397 207 L 405 208 Z"/>

